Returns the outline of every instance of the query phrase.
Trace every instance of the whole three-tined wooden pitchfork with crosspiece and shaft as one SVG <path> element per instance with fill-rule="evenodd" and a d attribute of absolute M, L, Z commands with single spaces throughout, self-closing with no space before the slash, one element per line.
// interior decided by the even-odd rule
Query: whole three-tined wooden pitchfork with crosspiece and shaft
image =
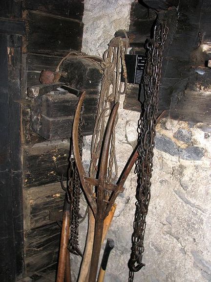
<path fill-rule="evenodd" d="M 95 217 L 95 233 L 94 233 L 94 243 L 91 257 L 91 265 L 89 272 L 88 282 L 95 282 L 97 276 L 98 262 L 101 250 L 101 242 L 103 235 L 103 227 L 105 217 L 108 215 L 109 211 L 112 208 L 118 194 L 124 191 L 123 185 L 129 175 L 130 170 L 132 169 L 137 157 L 138 157 L 138 145 L 131 154 L 123 172 L 120 175 L 116 184 L 111 184 L 107 182 L 107 164 L 108 164 L 108 155 L 109 155 L 109 146 L 111 141 L 111 136 L 113 132 L 114 123 L 116 120 L 117 110 L 119 107 L 119 102 L 117 102 L 110 114 L 110 117 L 107 122 L 107 127 L 105 131 L 105 138 L 102 145 L 101 157 L 98 164 L 97 178 L 90 178 L 82 164 L 80 157 L 79 146 L 78 146 L 78 126 L 81 107 L 84 101 L 85 92 L 81 95 L 78 105 L 75 112 L 75 117 L 73 121 L 72 129 L 72 142 L 73 142 L 73 153 L 75 158 L 75 164 L 79 171 L 79 177 L 81 184 L 84 190 L 85 197 L 87 202 L 94 214 Z M 164 112 L 157 118 L 160 119 L 163 117 Z M 93 194 L 93 187 L 96 188 L 95 194 Z M 106 191 L 110 191 L 109 198 L 106 197 Z"/>

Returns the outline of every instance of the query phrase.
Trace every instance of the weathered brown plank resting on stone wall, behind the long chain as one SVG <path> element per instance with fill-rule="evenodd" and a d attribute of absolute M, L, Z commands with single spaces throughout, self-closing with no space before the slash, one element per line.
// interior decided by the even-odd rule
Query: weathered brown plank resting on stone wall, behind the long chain
<path fill-rule="evenodd" d="M 201 80 L 200 80 L 201 79 Z M 169 111 L 169 117 L 173 119 L 191 121 L 193 123 L 211 123 L 211 88 L 210 79 L 202 75 L 198 80 L 189 79 L 164 79 L 160 86 L 158 111 Z M 200 91 L 200 87 L 202 90 Z M 198 91 L 196 89 L 198 88 Z M 186 90 L 188 89 L 188 90 Z M 205 90 L 205 92 L 204 92 Z M 132 111 L 141 111 L 138 100 L 139 89 L 130 86 L 126 95 L 124 108 Z"/>

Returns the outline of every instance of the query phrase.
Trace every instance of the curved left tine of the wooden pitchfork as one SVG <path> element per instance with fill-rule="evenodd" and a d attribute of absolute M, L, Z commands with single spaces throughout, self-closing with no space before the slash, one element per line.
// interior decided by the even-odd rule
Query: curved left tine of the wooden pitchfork
<path fill-rule="evenodd" d="M 92 190 L 90 188 L 90 186 L 85 182 L 84 177 L 86 177 L 86 173 L 84 170 L 84 166 L 82 164 L 82 160 L 81 160 L 81 156 L 80 156 L 80 152 L 79 152 L 79 145 L 78 145 L 78 126 L 79 126 L 79 118 L 80 118 L 80 113 L 81 113 L 81 107 L 82 104 L 84 102 L 84 97 L 85 97 L 85 92 L 83 94 L 81 94 L 79 101 L 78 101 L 78 105 L 75 111 L 75 116 L 74 116 L 74 120 L 73 120 L 73 126 L 72 126 L 72 142 L 73 142 L 73 153 L 74 153 L 74 158 L 75 158 L 75 163 L 76 166 L 78 168 L 78 172 L 79 172 L 79 177 L 82 183 L 82 186 L 84 188 L 84 193 L 85 196 L 88 200 L 88 203 L 93 211 L 94 214 L 96 214 L 97 212 L 97 207 L 96 207 L 96 203 L 92 198 Z"/>

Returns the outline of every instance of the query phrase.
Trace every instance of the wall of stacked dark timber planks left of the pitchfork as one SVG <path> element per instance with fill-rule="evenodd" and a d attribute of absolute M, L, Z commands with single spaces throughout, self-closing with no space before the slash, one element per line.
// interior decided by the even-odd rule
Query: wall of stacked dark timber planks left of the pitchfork
<path fill-rule="evenodd" d="M 81 51 L 83 12 L 82 0 L 22 1 L 26 25 L 21 79 L 25 276 L 36 277 L 37 271 L 56 267 L 64 197 L 60 179 L 66 175 L 69 156 L 68 139 L 46 141 L 33 132 L 34 100 L 27 95 L 27 88 L 41 85 L 41 71 L 55 71 L 70 50 Z M 53 106 L 55 96 L 51 96 Z M 49 105 L 45 108 L 50 111 Z"/>

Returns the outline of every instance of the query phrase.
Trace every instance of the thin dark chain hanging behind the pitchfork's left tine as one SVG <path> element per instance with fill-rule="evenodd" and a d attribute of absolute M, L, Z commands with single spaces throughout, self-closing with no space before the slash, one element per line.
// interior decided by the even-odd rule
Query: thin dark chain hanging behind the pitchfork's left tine
<path fill-rule="evenodd" d="M 82 114 L 84 108 L 82 108 L 79 120 L 79 151 L 82 158 L 83 153 L 83 135 L 82 135 Z M 71 181 L 71 183 L 70 183 Z M 71 186 L 72 185 L 72 186 Z M 79 256 L 83 256 L 79 249 L 78 242 L 78 228 L 79 228 L 79 211 L 80 211 L 80 194 L 81 194 L 81 182 L 79 178 L 78 169 L 75 165 L 74 159 L 70 160 L 70 169 L 69 169 L 69 187 L 72 187 L 72 216 L 71 216 L 71 233 L 68 249 L 71 253 Z"/>

